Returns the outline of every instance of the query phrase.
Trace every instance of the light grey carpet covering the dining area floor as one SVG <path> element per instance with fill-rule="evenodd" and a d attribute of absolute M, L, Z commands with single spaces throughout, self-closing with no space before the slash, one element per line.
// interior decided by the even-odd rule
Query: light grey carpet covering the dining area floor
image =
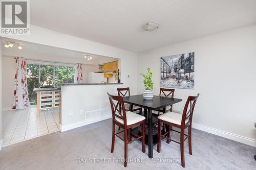
<path fill-rule="evenodd" d="M 184 169 L 180 164 L 179 145 L 163 140 L 161 153 L 154 147 L 154 163 L 147 157 L 147 147 L 146 153 L 142 153 L 140 142 L 130 144 L 128 155 L 133 160 L 124 168 L 122 162 L 117 162 L 124 155 L 123 141 L 116 137 L 114 153 L 110 153 L 111 126 L 108 119 L 10 145 L 0 151 L 0 169 Z M 256 148 L 196 129 L 192 135 L 193 156 L 188 154 L 186 141 L 185 169 L 256 169 L 253 158 Z M 160 163 L 156 162 L 160 161 L 158 158 L 178 161 Z M 87 160 L 77 163 L 77 159 Z"/>

